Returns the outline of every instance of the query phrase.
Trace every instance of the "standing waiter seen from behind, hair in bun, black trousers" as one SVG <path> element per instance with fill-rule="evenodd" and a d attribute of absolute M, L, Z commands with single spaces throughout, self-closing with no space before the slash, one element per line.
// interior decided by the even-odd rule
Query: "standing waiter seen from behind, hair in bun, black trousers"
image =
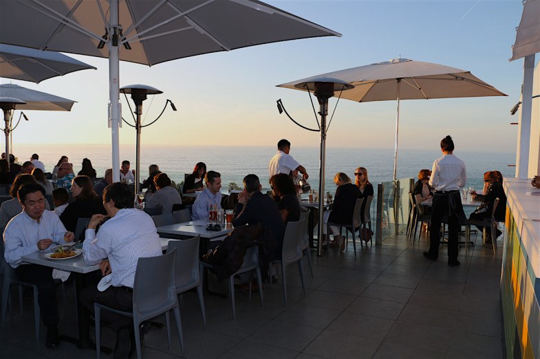
<path fill-rule="evenodd" d="M 433 162 L 429 185 L 435 188 L 431 211 L 431 235 L 429 252 L 424 257 L 433 261 L 439 257 L 440 227 L 444 215 L 449 219 L 448 265 L 459 266 L 457 261 L 457 233 L 460 229 L 460 217 L 464 217 L 460 188 L 465 186 L 467 175 L 465 163 L 453 154 L 454 142 L 446 136 L 441 140 L 442 157 Z"/>

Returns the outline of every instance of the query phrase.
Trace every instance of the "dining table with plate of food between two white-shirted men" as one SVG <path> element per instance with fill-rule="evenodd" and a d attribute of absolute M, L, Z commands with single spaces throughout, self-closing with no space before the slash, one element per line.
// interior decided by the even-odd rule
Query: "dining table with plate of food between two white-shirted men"
<path fill-rule="evenodd" d="M 89 334 L 89 314 L 83 308 L 83 305 L 78 303 L 80 292 L 86 287 L 86 274 L 99 270 L 99 264 L 88 265 L 83 258 L 83 249 L 77 249 L 78 254 L 75 257 L 63 259 L 50 259 L 50 255 L 54 253 L 52 250 L 45 250 L 35 253 L 30 253 L 22 257 L 22 261 L 30 264 L 38 264 L 40 266 L 50 267 L 65 272 L 73 273 L 75 281 L 75 300 L 77 301 L 77 323 L 78 323 L 78 338 L 73 338 L 68 335 L 61 335 L 60 340 L 65 340 L 69 343 L 74 343 L 79 348 L 89 348 L 92 346 Z M 102 348 L 102 351 L 110 352 L 108 348 Z"/>

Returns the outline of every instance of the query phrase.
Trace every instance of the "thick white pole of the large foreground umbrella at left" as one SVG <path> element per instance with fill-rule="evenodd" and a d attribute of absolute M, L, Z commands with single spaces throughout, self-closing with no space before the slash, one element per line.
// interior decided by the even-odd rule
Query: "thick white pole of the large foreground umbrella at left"
<path fill-rule="evenodd" d="M 111 146 L 112 146 L 112 168 L 113 182 L 120 182 L 120 141 L 118 135 L 118 124 L 120 122 L 120 60 L 118 41 L 113 44 L 114 35 L 118 31 L 118 0 L 110 0 L 111 17 L 109 25 L 109 101 L 111 119 Z"/>

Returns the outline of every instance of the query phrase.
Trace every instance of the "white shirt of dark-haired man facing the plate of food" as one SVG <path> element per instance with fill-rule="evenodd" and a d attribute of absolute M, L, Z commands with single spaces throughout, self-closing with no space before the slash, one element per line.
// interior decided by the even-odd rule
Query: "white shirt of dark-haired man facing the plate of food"
<path fill-rule="evenodd" d="M 25 211 L 22 211 L 10 220 L 3 232 L 6 246 L 3 256 L 13 268 L 17 268 L 23 264 L 22 257 L 39 252 L 37 242 L 48 239 L 60 244 L 64 241 L 65 232 L 60 218 L 52 211 L 45 209 L 39 222 L 32 220 Z"/>

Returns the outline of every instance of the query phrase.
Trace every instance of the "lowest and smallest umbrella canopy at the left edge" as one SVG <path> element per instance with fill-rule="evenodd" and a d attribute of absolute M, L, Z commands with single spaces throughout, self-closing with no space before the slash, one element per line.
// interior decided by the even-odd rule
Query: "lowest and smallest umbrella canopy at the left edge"
<path fill-rule="evenodd" d="M 0 84 L 0 97 L 14 97 L 26 102 L 18 104 L 17 110 L 72 111 L 72 106 L 76 102 L 16 84 Z"/>

